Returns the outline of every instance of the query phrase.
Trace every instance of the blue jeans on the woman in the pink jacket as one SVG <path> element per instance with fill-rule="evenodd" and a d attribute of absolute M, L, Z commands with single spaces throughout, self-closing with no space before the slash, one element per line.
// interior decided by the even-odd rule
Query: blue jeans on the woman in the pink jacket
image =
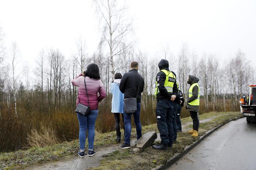
<path fill-rule="evenodd" d="M 79 122 L 79 147 L 81 150 L 85 149 L 86 129 L 88 130 L 88 149 L 93 150 L 95 135 L 94 129 L 97 116 L 98 110 L 90 110 L 87 116 L 83 116 L 82 114 L 77 113 Z"/>

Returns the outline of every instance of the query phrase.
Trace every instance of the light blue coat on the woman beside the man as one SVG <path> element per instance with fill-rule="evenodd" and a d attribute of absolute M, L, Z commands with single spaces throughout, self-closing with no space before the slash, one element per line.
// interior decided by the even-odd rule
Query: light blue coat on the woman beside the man
<path fill-rule="evenodd" d="M 115 79 L 110 85 L 110 92 L 112 93 L 112 113 L 124 113 L 124 94 L 119 90 L 121 79 Z"/>

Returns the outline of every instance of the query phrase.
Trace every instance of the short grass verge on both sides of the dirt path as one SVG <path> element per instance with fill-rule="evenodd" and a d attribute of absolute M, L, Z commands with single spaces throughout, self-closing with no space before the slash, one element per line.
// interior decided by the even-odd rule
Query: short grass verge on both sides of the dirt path
<path fill-rule="evenodd" d="M 227 115 L 228 114 L 228 115 Z M 220 113 L 206 113 L 200 115 L 200 120 L 214 118 L 210 122 L 200 124 L 199 135 L 205 134 L 207 130 L 222 124 L 226 120 L 241 116 L 237 112 L 220 112 Z M 191 118 L 183 118 L 182 124 L 191 122 Z M 148 131 L 158 131 L 156 124 L 143 126 L 142 133 Z M 95 149 L 104 148 L 115 143 L 115 131 L 99 134 L 95 136 Z M 132 129 L 131 138 L 136 138 L 136 130 Z M 175 144 L 173 151 L 155 151 L 151 148 L 146 149 L 143 153 L 133 153 L 131 150 L 117 150 L 109 155 L 106 155 L 101 161 L 99 167 L 94 169 L 148 169 L 155 167 L 161 163 L 166 162 L 174 153 L 180 152 L 185 146 L 190 145 L 198 138 L 192 138 L 187 133 L 179 133 L 178 141 Z M 88 143 L 86 143 L 88 145 Z M 18 150 L 9 153 L 0 154 L 0 169 L 24 169 L 30 165 L 54 162 L 58 160 L 65 160 L 74 157 L 77 154 L 79 141 L 63 142 L 46 147 L 32 147 L 27 150 Z M 150 162 L 148 162 L 150 160 Z"/>

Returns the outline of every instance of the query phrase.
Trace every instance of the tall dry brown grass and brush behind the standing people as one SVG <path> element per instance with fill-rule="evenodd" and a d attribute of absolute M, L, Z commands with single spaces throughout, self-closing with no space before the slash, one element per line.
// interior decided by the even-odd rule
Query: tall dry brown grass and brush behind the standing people
<path fill-rule="evenodd" d="M 99 105 L 99 112 L 95 125 L 97 133 L 106 133 L 115 130 L 115 118 L 113 113 L 111 113 L 111 99 L 112 98 L 109 95 Z M 224 111 L 222 100 L 217 100 L 217 104 L 217 110 L 213 110 L 211 107 L 206 109 L 203 99 L 200 100 L 201 106 L 199 107 L 199 114 L 212 111 Z M 21 107 L 18 108 L 19 117 L 15 116 L 13 109 L 1 110 L 0 152 L 22 149 L 27 146 L 50 145 L 51 142 L 56 143 L 56 139 L 58 139 L 58 142 L 78 139 L 79 124 L 77 114 L 74 110 L 71 110 L 70 106 L 63 105 L 57 112 L 51 110 L 50 113 L 48 110 L 41 113 L 40 110 L 34 110 L 32 108 L 27 109 L 25 107 L 26 105 L 22 104 L 19 104 L 19 106 Z M 23 106 L 24 108 L 22 108 Z M 140 121 L 142 126 L 156 123 L 155 106 L 155 103 L 153 103 L 153 106 L 148 106 L 147 103 L 142 101 L 140 112 Z M 209 104 L 209 106 L 211 106 L 211 104 Z M 230 102 L 226 103 L 226 111 L 236 111 L 238 109 L 238 107 L 234 108 Z M 189 116 L 190 114 L 184 106 L 182 108 L 181 118 Z M 133 120 L 132 126 L 135 127 Z M 42 127 L 44 127 L 46 131 L 42 130 Z M 121 127 L 123 127 L 123 123 L 121 123 Z M 49 136 L 50 141 L 44 139 L 47 135 Z M 53 135 L 55 136 L 53 137 Z M 36 140 L 33 143 L 32 139 L 36 139 L 37 137 L 42 139 L 42 141 L 47 142 L 40 144 L 40 141 Z"/>

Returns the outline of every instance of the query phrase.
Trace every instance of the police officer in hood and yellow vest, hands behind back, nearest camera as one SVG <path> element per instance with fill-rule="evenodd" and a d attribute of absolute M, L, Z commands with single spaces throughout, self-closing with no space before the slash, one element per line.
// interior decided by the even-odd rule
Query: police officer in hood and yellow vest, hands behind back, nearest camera
<path fill-rule="evenodd" d="M 169 70 L 169 63 L 162 59 L 158 63 L 160 72 L 156 75 L 155 96 L 157 127 L 160 132 L 161 143 L 153 145 L 154 149 L 172 148 L 174 133 L 172 129 L 173 101 L 178 96 L 176 75 Z"/>

